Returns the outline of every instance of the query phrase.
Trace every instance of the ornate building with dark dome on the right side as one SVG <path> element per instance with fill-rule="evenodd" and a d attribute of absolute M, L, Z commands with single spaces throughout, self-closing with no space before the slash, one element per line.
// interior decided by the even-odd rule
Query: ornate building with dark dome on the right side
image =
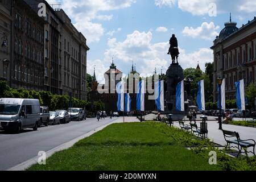
<path fill-rule="evenodd" d="M 217 78 L 225 78 L 226 100 L 236 98 L 234 82 L 245 80 L 245 86 L 256 80 L 256 17 L 237 28 L 237 23 L 225 23 L 214 40 L 213 96 L 217 101 Z"/>

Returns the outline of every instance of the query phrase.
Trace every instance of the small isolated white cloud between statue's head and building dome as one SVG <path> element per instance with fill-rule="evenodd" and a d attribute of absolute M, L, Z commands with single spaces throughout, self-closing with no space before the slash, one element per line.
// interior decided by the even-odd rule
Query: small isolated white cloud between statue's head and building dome
<path fill-rule="evenodd" d="M 182 34 L 185 36 L 190 36 L 192 38 L 201 38 L 204 40 L 212 40 L 218 35 L 217 30 L 219 26 L 215 26 L 213 22 L 209 24 L 204 22 L 201 24 L 201 27 L 185 27 L 182 31 Z"/>

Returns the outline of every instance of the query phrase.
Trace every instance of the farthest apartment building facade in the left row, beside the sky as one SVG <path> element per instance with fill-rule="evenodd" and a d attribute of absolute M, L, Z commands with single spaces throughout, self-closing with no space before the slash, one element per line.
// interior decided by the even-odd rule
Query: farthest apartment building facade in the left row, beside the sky
<path fill-rule="evenodd" d="M 62 29 L 62 86 L 63 94 L 86 100 L 86 60 L 89 47 L 86 38 L 73 26 L 64 10 L 56 12 L 63 21 Z"/>

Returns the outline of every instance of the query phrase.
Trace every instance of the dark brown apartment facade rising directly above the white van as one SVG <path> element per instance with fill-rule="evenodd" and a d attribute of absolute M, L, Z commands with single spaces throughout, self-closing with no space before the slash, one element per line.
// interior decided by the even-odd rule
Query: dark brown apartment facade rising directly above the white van
<path fill-rule="evenodd" d="M 10 85 L 40 91 L 44 89 L 44 20 L 25 1 L 12 1 Z"/>

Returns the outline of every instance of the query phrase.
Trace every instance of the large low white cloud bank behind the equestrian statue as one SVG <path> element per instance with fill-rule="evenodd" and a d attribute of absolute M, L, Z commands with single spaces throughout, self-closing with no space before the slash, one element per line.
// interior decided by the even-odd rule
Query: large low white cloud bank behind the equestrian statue
<path fill-rule="evenodd" d="M 152 43 L 152 33 L 134 31 L 126 36 L 123 42 L 118 42 L 116 38 L 108 40 L 109 48 L 105 51 L 105 61 L 109 63 L 112 56 L 115 62 L 118 62 L 118 69 L 127 73 L 130 69 L 127 65 L 131 65 L 131 61 L 137 63 L 137 71 L 142 76 L 147 76 L 154 72 L 155 67 L 158 72 L 163 67 L 166 72 L 171 64 L 170 56 L 167 55 L 170 44 L 168 42 Z M 185 68 L 196 68 L 197 61 L 200 61 L 201 69 L 204 64 L 213 60 L 213 52 L 208 48 L 201 48 L 195 52 L 187 53 L 180 48 L 179 63 Z"/>

